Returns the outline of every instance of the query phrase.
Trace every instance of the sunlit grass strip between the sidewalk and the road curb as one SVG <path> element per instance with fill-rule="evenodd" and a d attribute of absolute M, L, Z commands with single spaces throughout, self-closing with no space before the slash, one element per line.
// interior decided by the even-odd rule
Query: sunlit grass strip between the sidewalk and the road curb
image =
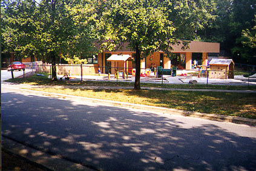
<path fill-rule="evenodd" d="M 256 119 L 255 93 L 54 88 L 32 90 Z"/>

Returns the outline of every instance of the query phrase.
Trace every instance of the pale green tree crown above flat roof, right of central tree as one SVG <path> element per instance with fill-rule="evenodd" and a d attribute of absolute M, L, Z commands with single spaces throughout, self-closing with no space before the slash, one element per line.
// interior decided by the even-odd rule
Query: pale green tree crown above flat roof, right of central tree
<path fill-rule="evenodd" d="M 176 28 L 174 36 L 182 40 L 206 40 L 206 29 L 212 28 L 217 19 L 217 1 L 166 1 L 168 19 Z"/>

